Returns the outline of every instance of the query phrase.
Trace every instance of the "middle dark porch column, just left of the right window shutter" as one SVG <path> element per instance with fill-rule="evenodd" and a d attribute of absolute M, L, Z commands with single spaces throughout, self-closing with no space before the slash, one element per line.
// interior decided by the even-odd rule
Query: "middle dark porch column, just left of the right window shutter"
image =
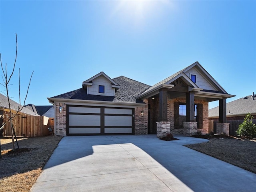
<path fill-rule="evenodd" d="M 186 93 L 186 122 L 194 122 L 195 93 Z"/>

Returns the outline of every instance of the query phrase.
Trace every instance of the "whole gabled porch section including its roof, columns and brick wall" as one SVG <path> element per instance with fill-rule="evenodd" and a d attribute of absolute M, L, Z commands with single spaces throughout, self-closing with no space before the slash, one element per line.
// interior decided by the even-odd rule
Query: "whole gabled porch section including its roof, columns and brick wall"
<path fill-rule="evenodd" d="M 209 133 L 208 103 L 219 101 L 217 134 L 229 134 L 226 98 L 233 97 L 198 63 L 173 74 L 140 94 L 148 103 L 148 133 L 191 136 Z"/>

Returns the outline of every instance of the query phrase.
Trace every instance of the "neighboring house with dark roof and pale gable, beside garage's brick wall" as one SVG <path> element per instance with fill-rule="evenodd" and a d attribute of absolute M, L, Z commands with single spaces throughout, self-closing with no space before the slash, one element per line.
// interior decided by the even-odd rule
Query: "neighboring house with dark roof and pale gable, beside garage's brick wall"
<path fill-rule="evenodd" d="M 35 114 L 38 114 L 40 116 L 46 116 L 49 118 L 54 118 L 54 106 L 53 105 L 34 105 L 34 104 L 28 104 L 24 107 L 32 110 L 35 112 Z"/>

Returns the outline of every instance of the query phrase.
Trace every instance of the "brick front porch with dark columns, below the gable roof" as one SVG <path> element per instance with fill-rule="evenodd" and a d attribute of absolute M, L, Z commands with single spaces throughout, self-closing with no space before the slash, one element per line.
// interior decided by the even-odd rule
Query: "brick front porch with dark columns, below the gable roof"
<path fill-rule="evenodd" d="M 195 96 L 195 92 L 175 92 L 161 89 L 159 93 L 148 98 L 148 134 L 157 137 L 166 134 L 191 136 L 196 132 L 208 131 L 208 103 L 219 100 L 220 122 L 217 134 L 228 134 L 226 125 L 226 98 L 204 98 Z"/>

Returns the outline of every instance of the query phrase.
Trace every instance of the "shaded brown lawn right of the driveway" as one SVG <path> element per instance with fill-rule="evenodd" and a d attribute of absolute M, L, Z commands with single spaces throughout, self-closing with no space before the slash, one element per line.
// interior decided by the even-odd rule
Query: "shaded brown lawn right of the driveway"
<path fill-rule="evenodd" d="M 256 173 L 256 140 L 213 138 L 209 142 L 186 147 Z"/>

